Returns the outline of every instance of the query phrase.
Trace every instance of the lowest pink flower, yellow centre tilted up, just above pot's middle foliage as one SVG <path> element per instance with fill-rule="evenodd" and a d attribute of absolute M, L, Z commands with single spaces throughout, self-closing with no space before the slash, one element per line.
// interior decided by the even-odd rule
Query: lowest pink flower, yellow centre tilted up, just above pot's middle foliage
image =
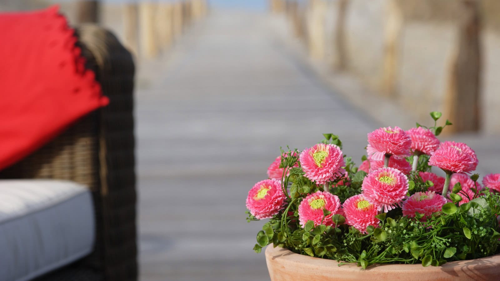
<path fill-rule="evenodd" d="M 370 204 L 365 198 L 364 194 L 357 194 L 347 198 L 342 204 L 342 209 L 345 214 L 345 223 L 354 226 L 362 233 L 366 233 L 368 225 L 378 226 L 378 207 Z"/>

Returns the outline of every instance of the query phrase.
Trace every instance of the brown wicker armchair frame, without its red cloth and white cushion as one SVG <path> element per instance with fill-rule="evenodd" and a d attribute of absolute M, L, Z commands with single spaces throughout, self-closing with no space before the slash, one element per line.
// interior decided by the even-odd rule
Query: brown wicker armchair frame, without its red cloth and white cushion
<path fill-rule="evenodd" d="M 76 28 L 78 44 L 108 106 L 83 117 L 0 178 L 69 179 L 92 191 L 96 214 L 94 251 L 40 280 L 136 280 L 133 76 L 130 53 L 98 26 Z"/>

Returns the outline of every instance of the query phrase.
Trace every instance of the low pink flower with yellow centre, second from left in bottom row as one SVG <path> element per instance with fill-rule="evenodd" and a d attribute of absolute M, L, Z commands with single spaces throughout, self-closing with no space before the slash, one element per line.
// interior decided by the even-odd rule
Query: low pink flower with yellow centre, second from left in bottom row
<path fill-rule="evenodd" d="M 303 227 L 308 220 L 314 221 L 314 226 L 319 224 L 333 225 L 331 217 L 340 210 L 340 200 L 337 195 L 333 195 L 326 191 L 316 191 L 307 195 L 298 206 L 298 220 Z M 331 213 L 323 219 L 323 209 L 329 210 Z"/>

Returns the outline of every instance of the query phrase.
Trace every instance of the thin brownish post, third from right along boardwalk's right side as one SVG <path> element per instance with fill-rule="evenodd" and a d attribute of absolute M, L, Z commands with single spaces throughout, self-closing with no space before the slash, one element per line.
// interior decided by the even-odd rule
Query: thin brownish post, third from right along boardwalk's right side
<path fill-rule="evenodd" d="M 336 61 L 334 68 L 345 70 L 347 67 L 347 53 L 345 47 L 345 17 L 347 14 L 348 0 L 338 0 L 337 18 L 334 30 Z"/>

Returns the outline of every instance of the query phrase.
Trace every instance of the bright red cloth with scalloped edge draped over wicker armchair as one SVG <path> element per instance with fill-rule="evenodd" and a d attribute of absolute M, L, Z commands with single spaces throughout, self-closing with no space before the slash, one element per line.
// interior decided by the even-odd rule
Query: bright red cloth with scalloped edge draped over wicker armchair
<path fill-rule="evenodd" d="M 107 105 L 58 6 L 0 13 L 0 169 Z"/>

